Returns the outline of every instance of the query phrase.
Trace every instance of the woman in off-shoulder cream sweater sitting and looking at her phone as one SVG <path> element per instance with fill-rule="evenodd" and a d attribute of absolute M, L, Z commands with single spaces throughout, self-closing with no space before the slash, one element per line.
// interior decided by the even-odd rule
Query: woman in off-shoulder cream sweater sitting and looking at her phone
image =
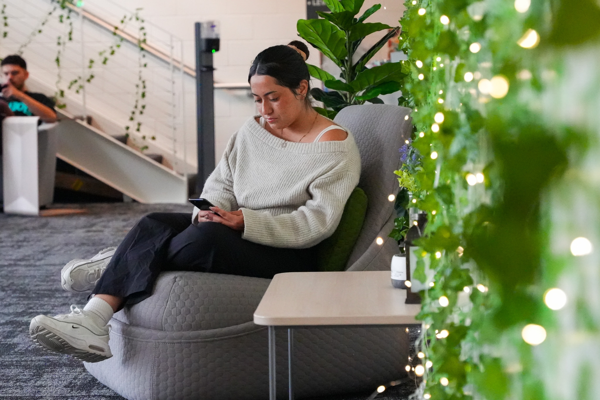
<path fill-rule="evenodd" d="M 118 248 L 70 261 L 62 287 L 94 294 L 83 309 L 33 318 L 38 345 L 86 362 L 112 357 L 113 313 L 149 297 L 165 270 L 259 278 L 316 270 L 315 246 L 340 222 L 361 161 L 353 137 L 311 107 L 307 57 L 299 41 L 256 56 L 248 82 L 260 116 L 233 134 L 206 180 L 200 197 L 214 207 L 151 213 Z"/>

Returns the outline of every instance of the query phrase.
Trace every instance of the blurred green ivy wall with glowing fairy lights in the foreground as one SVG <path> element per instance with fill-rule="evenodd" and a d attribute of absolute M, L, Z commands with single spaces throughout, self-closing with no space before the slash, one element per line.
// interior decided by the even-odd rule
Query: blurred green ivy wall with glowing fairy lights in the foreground
<path fill-rule="evenodd" d="M 413 397 L 600 398 L 599 4 L 405 5 L 421 160 L 400 174 L 429 221 Z"/>

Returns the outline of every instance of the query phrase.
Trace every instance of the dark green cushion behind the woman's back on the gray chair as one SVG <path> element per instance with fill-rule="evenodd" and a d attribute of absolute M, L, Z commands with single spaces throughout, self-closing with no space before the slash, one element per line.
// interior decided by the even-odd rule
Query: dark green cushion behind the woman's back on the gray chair
<path fill-rule="evenodd" d="M 340 224 L 334 234 L 319 243 L 319 270 L 343 271 L 350 258 L 356 239 L 361 233 L 367 213 L 367 195 L 361 188 L 350 194 Z"/>

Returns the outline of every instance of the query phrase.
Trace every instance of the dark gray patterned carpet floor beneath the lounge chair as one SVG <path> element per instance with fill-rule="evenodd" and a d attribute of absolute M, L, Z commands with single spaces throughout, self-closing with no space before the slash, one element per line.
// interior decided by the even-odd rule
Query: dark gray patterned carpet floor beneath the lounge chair
<path fill-rule="evenodd" d="M 61 289 L 59 273 L 65 263 L 118 245 L 145 213 L 190 212 L 190 206 L 112 203 L 80 207 L 89 212 L 44 218 L 0 213 L 1 399 L 124 399 L 89 375 L 79 361 L 35 347 L 28 335 L 29 321 L 38 314 L 65 314 L 71 304 L 85 305 L 86 294 Z M 411 336 L 416 335 L 413 329 Z M 404 400 L 414 389 L 415 382 L 409 381 L 389 387 L 376 399 Z M 366 400 L 370 395 L 350 393 L 319 400 Z"/>

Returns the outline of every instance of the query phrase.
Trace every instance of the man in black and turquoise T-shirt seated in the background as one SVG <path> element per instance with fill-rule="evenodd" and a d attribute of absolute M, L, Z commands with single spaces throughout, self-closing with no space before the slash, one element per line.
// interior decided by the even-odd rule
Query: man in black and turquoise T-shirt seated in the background
<path fill-rule="evenodd" d="M 38 116 L 42 122 L 56 122 L 54 101 L 41 93 L 27 91 L 27 63 L 19 55 L 6 56 L 0 62 L 2 98 L 16 116 Z"/>

